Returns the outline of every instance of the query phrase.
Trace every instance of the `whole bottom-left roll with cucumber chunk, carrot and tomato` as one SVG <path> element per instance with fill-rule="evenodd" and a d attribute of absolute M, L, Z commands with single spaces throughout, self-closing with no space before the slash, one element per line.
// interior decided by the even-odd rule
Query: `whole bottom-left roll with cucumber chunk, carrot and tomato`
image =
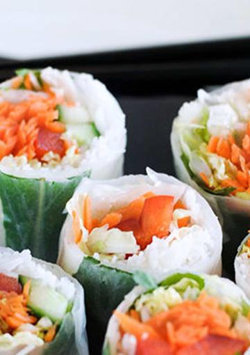
<path fill-rule="evenodd" d="M 88 355 L 83 288 L 30 251 L 0 248 L 0 353 Z"/>

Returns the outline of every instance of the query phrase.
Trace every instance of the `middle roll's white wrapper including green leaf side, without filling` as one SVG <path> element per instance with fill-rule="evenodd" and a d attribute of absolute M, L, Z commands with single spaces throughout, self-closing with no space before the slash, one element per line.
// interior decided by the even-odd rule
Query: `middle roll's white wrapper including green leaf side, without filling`
<path fill-rule="evenodd" d="M 81 194 L 88 194 L 94 217 L 122 207 L 138 196 L 153 191 L 155 194 L 181 198 L 194 214 L 199 226 L 207 235 L 190 232 L 173 242 L 172 237 L 154 239 L 139 255 L 128 258 L 129 262 L 105 262 L 84 255 L 74 244 L 72 217 L 67 216 L 60 235 L 58 263 L 73 274 L 85 290 L 88 337 L 90 350 L 98 351 L 113 309 L 122 301 L 135 281 L 134 271 L 147 271 L 159 279 L 169 269 L 185 267 L 210 274 L 221 272 L 222 230 L 210 206 L 194 189 L 171 176 L 147 169 L 147 175 L 128 175 L 116 180 L 93 181 L 84 179 L 67 207 Z M 98 344 L 95 334 L 99 331 Z"/>

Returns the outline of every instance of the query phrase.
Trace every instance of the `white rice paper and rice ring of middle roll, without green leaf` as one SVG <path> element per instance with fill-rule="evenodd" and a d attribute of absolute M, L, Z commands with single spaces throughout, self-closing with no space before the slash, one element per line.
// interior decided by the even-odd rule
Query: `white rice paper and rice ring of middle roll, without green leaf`
<path fill-rule="evenodd" d="M 205 235 L 200 235 L 200 230 L 191 227 L 188 234 L 180 232 L 176 235 L 172 232 L 166 239 L 155 237 L 138 257 L 133 256 L 126 262 L 109 262 L 107 265 L 128 272 L 135 271 L 135 269 L 142 269 L 142 271 L 150 269 L 156 278 L 161 277 L 160 273 L 164 274 L 176 267 L 219 274 L 221 272 L 222 229 L 217 217 L 206 200 L 196 191 L 169 175 L 156 173 L 147 168 L 147 175 L 128 175 L 107 181 L 83 179 L 74 196 L 67 203 L 67 210 L 72 212 L 78 205 L 78 197 L 88 194 L 92 202 L 94 218 L 101 219 L 111 208 L 118 209 L 127 205 L 147 191 L 153 191 L 158 195 L 172 195 L 174 203 L 181 198 L 192 213 L 193 223 L 201 227 L 201 230 L 208 232 L 208 240 Z M 188 228 L 183 228 L 183 230 L 188 230 Z M 83 232 L 85 232 L 84 227 Z M 60 235 L 58 261 L 65 270 L 74 274 L 83 258 L 83 252 L 74 244 L 72 216 L 69 214 Z"/>

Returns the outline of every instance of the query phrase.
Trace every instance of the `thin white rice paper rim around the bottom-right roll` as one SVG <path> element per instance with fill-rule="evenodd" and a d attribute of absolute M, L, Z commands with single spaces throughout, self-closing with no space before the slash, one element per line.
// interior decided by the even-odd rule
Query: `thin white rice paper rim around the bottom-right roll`
<path fill-rule="evenodd" d="M 167 279 L 169 276 L 173 276 L 175 273 L 177 274 L 187 274 L 187 271 L 185 270 L 175 270 L 172 271 L 168 274 L 165 275 L 165 277 L 161 280 L 163 282 L 165 279 Z M 194 273 L 193 273 L 194 274 Z M 232 281 L 228 280 L 228 278 L 222 278 L 219 276 L 211 276 L 211 275 L 205 275 L 205 274 L 199 274 L 195 273 L 194 275 L 199 276 L 203 278 L 204 285 L 203 285 L 203 290 L 206 290 L 208 294 L 210 294 L 213 297 L 216 297 L 219 301 L 232 301 L 233 303 L 236 304 L 244 304 L 242 308 L 250 307 L 250 300 L 244 294 L 244 292 L 235 285 Z M 136 285 L 131 292 L 125 295 L 124 300 L 122 303 L 117 306 L 117 310 L 120 313 L 126 313 L 129 308 L 133 305 L 134 301 L 144 292 L 147 292 L 147 288 L 145 288 L 142 285 Z M 103 352 L 102 355 L 117 355 L 120 354 L 117 351 L 117 344 L 120 340 L 119 336 L 119 323 L 117 321 L 117 318 L 115 315 L 112 315 L 110 317 L 110 320 L 108 322 L 108 327 L 106 330 L 106 336 L 105 340 L 103 342 Z M 249 349 L 247 349 L 247 352 L 244 352 L 244 355 L 249 355 Z"/>

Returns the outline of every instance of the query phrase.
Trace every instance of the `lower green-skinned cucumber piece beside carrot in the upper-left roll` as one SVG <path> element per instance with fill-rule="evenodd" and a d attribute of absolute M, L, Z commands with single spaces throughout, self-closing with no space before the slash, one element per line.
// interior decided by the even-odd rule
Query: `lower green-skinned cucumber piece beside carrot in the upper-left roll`
<path fill-rule="evenodd" d="M 94 123 L 83 123 L 82 125 L 66 125 L 67 132 L 72 134 L 78 145 L 90 145 L 94 137 L 99 137 L 100 134 Z"/>

